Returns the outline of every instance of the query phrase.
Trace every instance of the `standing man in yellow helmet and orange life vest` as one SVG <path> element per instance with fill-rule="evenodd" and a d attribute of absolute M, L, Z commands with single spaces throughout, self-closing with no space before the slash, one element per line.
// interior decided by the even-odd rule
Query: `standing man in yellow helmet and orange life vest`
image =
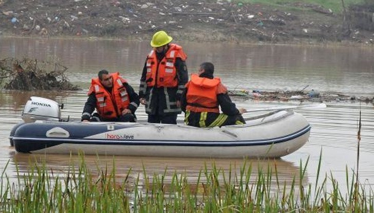
<path fill-rule="evenodd" d="M 164 31 L 153 35 L 140 78 L 140 103 L 145 105 L 149 123 L 177 123 L 180 97 L 188 81 L 186 54 L 182 47 L 170 44 L 173 38 Z"/>

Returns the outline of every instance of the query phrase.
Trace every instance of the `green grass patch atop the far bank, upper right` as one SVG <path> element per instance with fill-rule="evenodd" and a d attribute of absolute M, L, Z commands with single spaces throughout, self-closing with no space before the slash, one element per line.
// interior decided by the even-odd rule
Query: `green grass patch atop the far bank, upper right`
<path fill-rule="evenodd" d="M 342 13 L 342 1 L 341 0 L 233 0 L 236 3 L 249 3 L 249 4 L 264 4 L 270 5 L 275 8 L 294 11 L 294 10 L 305 10 L 300 7 L 293 6 L 294 3 L 304 3 L 312 5 L 321 5 L 326 9 L 331 9 L 334 13 Z M 351 4 L 362 4 L 368 2 L 368 0 L 344 0 L 345 7 L 348 8 Z"/>

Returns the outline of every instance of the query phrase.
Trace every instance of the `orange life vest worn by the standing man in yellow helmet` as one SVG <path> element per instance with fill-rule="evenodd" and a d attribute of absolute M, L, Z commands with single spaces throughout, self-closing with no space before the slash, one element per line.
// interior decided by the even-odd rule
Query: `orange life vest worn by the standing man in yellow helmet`
<path fill-rule="evenodd" d="M 165 57 L 161 61 L 157 60 L 156 50 L 152 50 L 147 56 L 146 62 L 146 80 L 147 87 L 177 87 L 177 70 L 174 66 L 176 58 L 183 61 L 187 55 L 183 52 L 182 47 L 176 44 L 170 44 L 166 51 Z"/>

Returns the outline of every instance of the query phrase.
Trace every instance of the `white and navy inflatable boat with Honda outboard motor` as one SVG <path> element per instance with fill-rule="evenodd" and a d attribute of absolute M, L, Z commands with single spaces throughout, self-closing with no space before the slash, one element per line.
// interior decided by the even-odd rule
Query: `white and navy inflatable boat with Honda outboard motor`
<path fill-rule="evenodd" d="M 247 124 L 198 128 L 183 124 L 71 122 L 62 105 L 31 97 L 10 141 L 21 153 L 201 158 L 279 158 L 302 147 L 308 121 L 292 110 L 247 118 Z"/>

